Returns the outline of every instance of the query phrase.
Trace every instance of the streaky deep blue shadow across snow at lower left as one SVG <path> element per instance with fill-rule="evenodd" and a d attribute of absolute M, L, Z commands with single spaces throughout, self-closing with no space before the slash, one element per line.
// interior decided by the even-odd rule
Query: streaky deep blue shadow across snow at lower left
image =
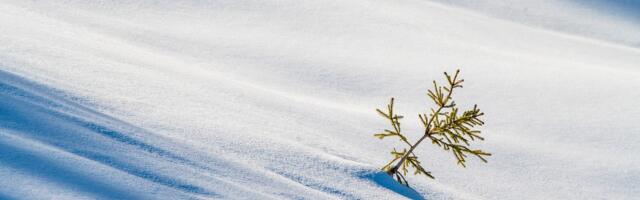
<path fill-rule="evenodd" d="M 58 99 L 60 97 L 55 94 L 55 89 L 47 88 L 0 70 L 0 127 L 14 130 L 23 135 L 22 137 L 26 136 L 30 139 L 35 139 L 41 143 L 55 146 L 66 152 L 179 191 L 206 196 L 216 195 L 200 186 L 173 177 L 175 174 L 162 174 L 151 171 L 145 169 L 135 160 L 121 159 L 117 155 L 113 155 L 110 150 L 114 148 L 126 149 L 132 150 L 129 151 L 129 154 L 155 158 L 157 162 L 197 165 L 168 150 L 136 139 L 128 132 L 108 128 L 106 125 L 99 125 L 96 122 L 92 122 L 92 120 L 89 121 L 92 118 L 102 118 L 111 123 L 126 126 L 127 128 L 125 129 L 129 131 L 142 131 L 138 127 L 103 116 L 103 114 L 77 104 L 65 105 L 64 103 L 57 103 L 51 99 L 60 101 L 64 101 L 64 99 Z M 79 118 L 66 112 L 73 110 L 85 114 L 88 113 L 90 117 Z M 0 152 L 10 152 L 9 154 L 0 153 L 0 164 L 2 165 L 29 171 L 31 174 L 55 180 L 82 191 L 102 195 L 104 198 L 138 199 L 136 196 L 127 194 L 128 192 L 126 191 L 112 188 L 100 180 L 83 177 L 81 173 L 57 165 L 55 160 L 38 157 L 34 153 L 29 153 L 27 149 L 11 147 L 10 143 L 3 143 L 2 140 L 0 140 Z M 6 161 L 7 159 L 24 162 L 3 162 L 3 160 Z M 33 162 L 26 162 L 29 160 Z"/>

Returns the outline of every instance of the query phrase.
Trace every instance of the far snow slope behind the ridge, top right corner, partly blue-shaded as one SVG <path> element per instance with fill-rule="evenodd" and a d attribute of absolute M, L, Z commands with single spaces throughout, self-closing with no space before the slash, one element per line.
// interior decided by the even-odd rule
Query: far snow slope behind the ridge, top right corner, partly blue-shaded
<path fill-rule="evenodd" d="M 433 0 L 525 25 L 640 47 L 638 0 Z"/>

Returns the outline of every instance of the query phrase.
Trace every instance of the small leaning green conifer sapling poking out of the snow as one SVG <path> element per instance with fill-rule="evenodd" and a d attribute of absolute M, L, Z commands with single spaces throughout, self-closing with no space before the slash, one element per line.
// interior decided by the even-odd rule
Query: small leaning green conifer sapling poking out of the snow
<path fill-rule="evenodd" d="M 484 122 L 480 119 L 484 113 L 480 112 L 477 105 L 474 105 L 470 110 L 460 112 L 453 101 L 454 90 L 462 88 L 462 83 L 464 82 L 463 79 L 458 79 L 459 73 L 460 70 L 457 70 L 453 76 L 450 76 L 445 72 L 444 75 L 447 78 L 446 86 L 439 86 L 436 81 L 433 81 L 433 88 L 427 91 L 427 95 L 436 106 L 428 114 L 418 114 L 424 127 L 424 134 L 413 144 L 401 132 L 400 119 L 403 117 L 394 113 L 394 98 L 391 98 L 386 112 L 376 109 L 378 114 L 391 123 L 392 130 L 385 129 L 384 132 L 374 136 L 379 139 L 397 137 L 406 146 L 402 151 L 394 148 L 391 151 L 393 159 L 382 168 L 389 175 L 395 176 L 398 182 L 408 185 L 404 176 L 409 171 L 409 168 L 413 168 L 416 175 L 424 174 L 429 178 L 434 178 L 431 172 L 422 167 L 418 156 L 414 154 L 416 147 L 425 139 L 429 139 L 434 145 L 451 152 L 458 165 L 462 167 L 466 166 L 465 162 L 468 155 L 473 155 L 483 162 L 487 162 L 485 156 L 491 156 L 490 153 L 480 149 L 470 148 L 471 141 L 484 140 L 480 136 L 480 131 L 476 129 L 484 125 Z"/>

